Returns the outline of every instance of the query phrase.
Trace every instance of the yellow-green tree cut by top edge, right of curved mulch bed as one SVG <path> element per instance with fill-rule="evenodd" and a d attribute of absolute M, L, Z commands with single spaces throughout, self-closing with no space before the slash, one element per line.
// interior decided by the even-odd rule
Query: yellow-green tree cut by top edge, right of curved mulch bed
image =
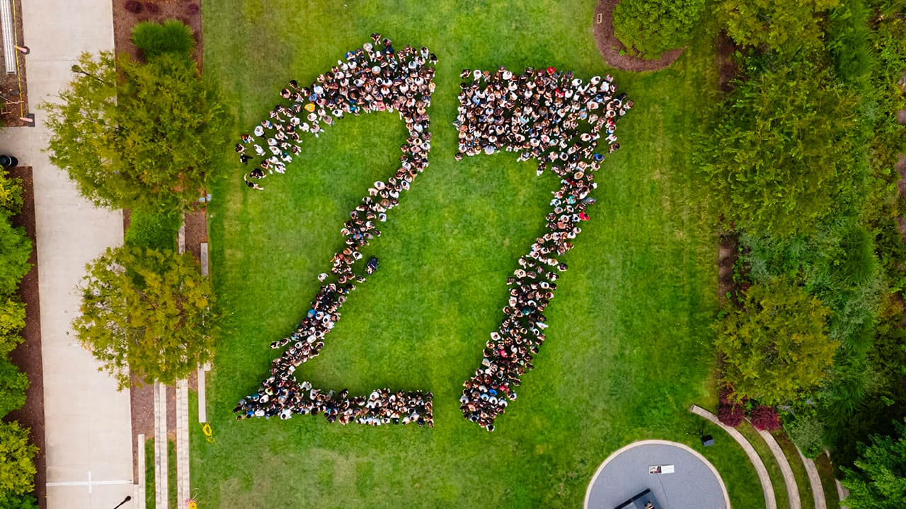
<path fill-rule="evenodd" d="M 818 14 L 838 5 L 839 0 L 721 0 L 718 23 L 737 44 L 809 45 L 820 41 Z"/>

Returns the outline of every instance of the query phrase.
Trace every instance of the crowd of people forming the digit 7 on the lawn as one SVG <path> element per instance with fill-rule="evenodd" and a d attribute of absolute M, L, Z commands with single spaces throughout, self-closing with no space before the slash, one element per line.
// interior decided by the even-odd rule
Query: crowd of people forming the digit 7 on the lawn
<path fill-rule="evenodd" d="M 547 319 L 542 314 L 554 298 L 559 273 L 566 270 L 563 255 L 589 219 L 593 174 L 604 155 L 598 141 L 619 148 L 616 122 L 632 107 L 618 94 L 611 76 L 588 82 L 554 67 L 516 74 L 504 67 L 494 72 L 465 70 L 460 77 L 457 160 L 464 156 L 517 154 L 516 160 L 538 161 L 537 174 L 550 170 L 559 177 L 552 191 L 545 234 L 519 258 L 500 327 L 491 332 L 475 375 L 463 383 L 459 398 L 463 416 L 488 431 L 494 420 L 516 400 L 520 377 L 545 341 Z"/>

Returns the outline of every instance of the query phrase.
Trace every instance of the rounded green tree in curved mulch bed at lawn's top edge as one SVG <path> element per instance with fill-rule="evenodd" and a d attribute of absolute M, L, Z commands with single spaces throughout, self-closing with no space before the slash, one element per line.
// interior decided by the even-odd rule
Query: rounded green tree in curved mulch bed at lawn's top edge
<path fill-rule="evenodd" d="M 705 0 L 622 0 L 613 10 L 613 33 L 644 58 L 689 41 Z"/>

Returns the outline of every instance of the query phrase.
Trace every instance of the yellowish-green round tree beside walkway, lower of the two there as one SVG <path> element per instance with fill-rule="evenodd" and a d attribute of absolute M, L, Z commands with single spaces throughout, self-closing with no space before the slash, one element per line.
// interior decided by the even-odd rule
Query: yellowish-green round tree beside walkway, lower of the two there
<path fill-rule="evenodd" d="M 172 384 L 213 357 L 213 295 L 192 255 L 124 246 L 88 265 L 82 345 L 129 387 L 130 370 L 146 383 Z"/>

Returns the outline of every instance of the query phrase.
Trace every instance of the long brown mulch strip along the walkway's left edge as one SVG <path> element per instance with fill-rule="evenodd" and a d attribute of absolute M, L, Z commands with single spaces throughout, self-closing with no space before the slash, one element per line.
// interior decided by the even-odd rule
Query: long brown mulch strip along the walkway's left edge
<path fill-rule="evenodd" d="M 25 341 L 16 348 L 10 359 L 28 376 L 30 385 L 25 391 L 25 406 L 6 416 L 6 420 L 18 420 L 32 428 L 32 443 L 38 447 L 34 457 L 34 466 L 38 473 L 34 475 L 34 496 L 42 509 L 47 507 L 47 458 L 44 449 L 44 382 L 43 362 L 41 360 L 41 303 L 38 298 L 38 247 L 34 236 L 34 187 L 32 168 L 10 168 L 11 177 L 22 178 L 23 206 L 22 212 L 13 217 L 13 226 L 22 226 L 28 238 L 32 239 L 32 255 L 28 263 L 32 270 L 25 274 L 19 284 L 19 297 L 25 303 L 25 328 L 22 337 Z"/>

